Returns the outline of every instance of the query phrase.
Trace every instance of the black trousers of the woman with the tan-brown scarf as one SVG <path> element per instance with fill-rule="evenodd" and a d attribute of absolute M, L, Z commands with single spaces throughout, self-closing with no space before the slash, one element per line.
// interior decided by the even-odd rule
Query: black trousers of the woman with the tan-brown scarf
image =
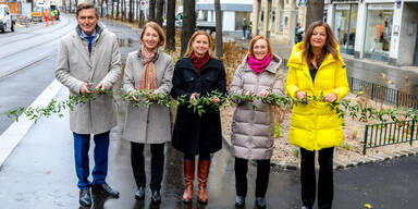
<path fill-rule="evenodd" d="M 162 173 L 164 171 L 164 145 L 151 144 L 151 182 L 149 187 L 152 192 L 160 190 Z M 131 142 L 131 163 L 136 185 L 145 187 L 147 182 L 145 175 L 144 144 Z"/>

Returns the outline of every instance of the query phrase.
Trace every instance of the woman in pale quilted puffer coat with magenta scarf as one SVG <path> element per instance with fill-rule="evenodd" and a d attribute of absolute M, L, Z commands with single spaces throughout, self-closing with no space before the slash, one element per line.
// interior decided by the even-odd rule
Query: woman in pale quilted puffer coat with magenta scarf
<path fill-rule="evenodd" d="M 256 36 L 243 63 L 235 72 L 230 94 L 267 97 L 281 95 L 280 71 L 282 59 L 272 53 L 269 40 Z M 253 104 L 256 106 L 253 109 Z M 235 157 L 236 194 L 235 206 L 243 208 L 247 194 L 247 162 L 257 161 L 256 206 L 266 208 L 266 192 L 269 183 L 270 158 L 273 152 L 273 113 L 271 104 L 260 100 L 238 102 L 233 115 L 231 151 Z"/>

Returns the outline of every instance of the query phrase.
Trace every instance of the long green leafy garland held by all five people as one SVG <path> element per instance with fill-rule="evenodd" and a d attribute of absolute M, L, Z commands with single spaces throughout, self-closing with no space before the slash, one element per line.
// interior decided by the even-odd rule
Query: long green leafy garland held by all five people
<path fill-rule="evenodd" d="M 63 110 L 70 109 L 73 110 L 75 106 L 84 104 L 88 100 L 95 100 L 99 96 L 108 96 L 113 101 L 113 94 L 119 94 L 120 90 L 113 91 L 102 91 L 98 90 L 97 93 L 90 91 L 84 94 L 83 96 L 70 96 L 67 100 L 58 102 L 57 100 L 51 100 L 47 107 L 38 107 L 28 109 L 19 108 L 16 110 L 11 110 L 8 113 L 9 118 L 14 118 L 16 121 L 20 114 L 25 114 L 30 120 L 37 120 L 41 115 L 49 116 L 51 114 L 59 114 L 60 118 L 63 116 L 61 113 Z M 256 109 L 254 104 L 255 100 L 259 100 L 263 103 L 269 103 L 272 106 L 278 106 L 282 108 L 292 108 L 294 104 L 308 104 L 310 102 L 324 102 L 323 94 L 320 96 L 307 96 L 304 99 L 294 99 L 288 96 L 279 96 L 274 94 L 270 94 L 269 96 L 261 97 L 259 95 L 224 95 L 218 90 L 213 90 L 207 95 L 201 97 L 197 97 L 195 99 L 189 100 L 185 98 L 185 96 L 179 97 L 176 99 L 170 98 L 164 94 L 152 93 L 152 90 L 144 89 L 138 91 L 133 91 L 131 94 L 119 94 L 123 100 L 133 103 L 134 107 L 139 108 L 144 106 L 149 108 L 152 103 L 158 103 L 164 107 L 170 107 L 173 104 L 176 106 L 185 106 L 187 108 L 192 108 L 194 112 L 197 112 L 199 115 L 204 114 L 205 108 L 212 108 L 214 110 L 219 110 L 221 106 L 231 104 L 231 103 L 239 103 L 239 102 L 250 102 L 253 103 L 253 109 Z M 134 98 L 135 97 L 135 98 Z M 219 101 L 218 101 L 219 100 Z M 216 102 L 218 101 L 218 102 Z M 340 100 L 334 101 L 332 103 L 328 102 L 328 107 L 331 110 L 335 111 L 339 114 L 339 118 L 344 119 L 347 114 L 353 120 L 379 120 L 381 122 L 386 122 L 388 120 L 392 120 L 394 122 L 399 122 L 405 119 L 418 120 L 418 110 L 414 109 L 391 109 L 391 110 L 376 110 L 370 107 L 361 107 L 357 103 L 353 103 L 348 100 Z"/>

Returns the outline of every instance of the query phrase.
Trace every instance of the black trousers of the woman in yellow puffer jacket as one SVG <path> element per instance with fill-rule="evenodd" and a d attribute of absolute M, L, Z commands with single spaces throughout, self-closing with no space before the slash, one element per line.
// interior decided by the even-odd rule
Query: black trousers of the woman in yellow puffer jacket
<path fill-rule="evenodd" d="M 331 209 L 334 196 L 333 159 L 334 148 L 319 150 L 318 208 Z M 304 206 L 312 207 L 316 197 L 315 151 L 300 148 L 300 183 Z"/>

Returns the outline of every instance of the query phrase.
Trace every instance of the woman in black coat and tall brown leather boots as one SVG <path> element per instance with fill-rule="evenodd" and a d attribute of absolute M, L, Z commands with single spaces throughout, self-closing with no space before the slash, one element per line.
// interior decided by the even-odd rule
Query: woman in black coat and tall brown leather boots
<path fill-rule="evenodd" d="M 225 70 L 220 60 L 210 56 L 211 38 L 206 32 L 196 32 L 188 41 L 185 57 L 174 67 L 173 98 L 185 96 L 193 101 L 212 90 L 226 93 Z M 212 98 L 219 102 L 219 98 Z M 179 106 L 174 124 L 173 147 L 184 153 L 183 169 L 185 190 L 183 201 L 192 202 L 193 181 L 195 179 L 195 156 L 198 162 L 198 200 L 208 202 L 206 184 L 210 168 L 210 153 L 222 148 L 222 130 L 219 110 L 205 107 L 199 115 L 188 104 Z"/>

